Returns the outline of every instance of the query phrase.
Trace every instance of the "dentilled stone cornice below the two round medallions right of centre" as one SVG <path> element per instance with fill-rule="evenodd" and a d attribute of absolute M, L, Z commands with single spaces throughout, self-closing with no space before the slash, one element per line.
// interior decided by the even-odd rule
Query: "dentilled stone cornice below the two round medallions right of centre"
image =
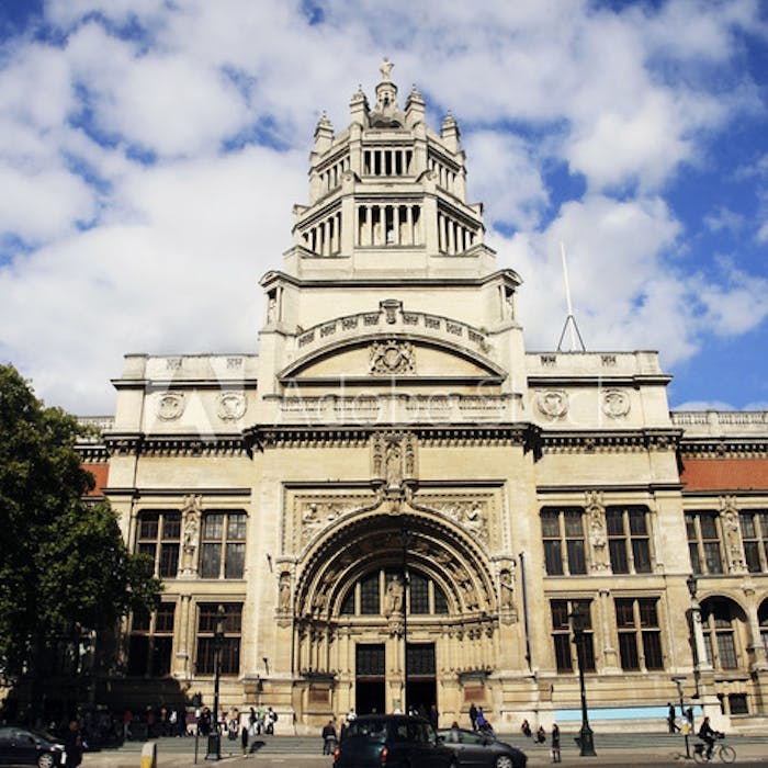
<path fill-rule="evenodd" d="M 541 433 L 542 450 L 546 453 L 615 453 L 617 451 L 676 450 L 682 430 L 585 430 L 551 431 Z"/>

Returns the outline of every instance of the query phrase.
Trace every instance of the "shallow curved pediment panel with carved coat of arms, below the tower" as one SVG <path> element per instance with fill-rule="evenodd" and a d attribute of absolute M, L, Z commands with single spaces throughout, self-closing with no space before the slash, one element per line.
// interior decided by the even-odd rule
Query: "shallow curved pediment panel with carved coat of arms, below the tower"
<path fill-rule="evenodd" d="M 460 343 L 416 334 L 370 334 L 313 349 L 279 374 L 283 383 L 364 380 L 375 384 L 392 377 L 500 382 L 506 372 Z"/>

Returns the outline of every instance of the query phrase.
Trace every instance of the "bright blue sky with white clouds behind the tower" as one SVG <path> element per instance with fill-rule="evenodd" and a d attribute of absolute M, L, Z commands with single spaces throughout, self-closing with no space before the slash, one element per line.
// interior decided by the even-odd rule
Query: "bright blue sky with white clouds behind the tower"
<path fill-rule="evenodd" d="M 768 3 L 2 0 L 0 361 L 108 414 L 126 352 L 256 350 L 325 111 L 451 110 L 531 350 L 656 349 L 768 409 Z M 403 99 L 404 100 L 404 99 Z"/>

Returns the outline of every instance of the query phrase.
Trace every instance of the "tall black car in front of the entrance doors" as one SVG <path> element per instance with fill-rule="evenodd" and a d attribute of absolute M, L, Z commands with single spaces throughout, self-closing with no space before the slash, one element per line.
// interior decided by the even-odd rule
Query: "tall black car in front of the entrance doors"
<path fill-rule="evenodd" d="M 353 720 L 334 752 L 335 768 L 458 768 L 423 718 L 368 714 Z"/>

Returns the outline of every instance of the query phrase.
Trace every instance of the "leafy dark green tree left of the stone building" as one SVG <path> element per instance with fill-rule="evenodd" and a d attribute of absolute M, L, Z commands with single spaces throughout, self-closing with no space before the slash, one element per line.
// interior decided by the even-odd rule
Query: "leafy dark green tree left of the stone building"
<path fill-rule="evenodd" d="M 0 674 L 46 674 L 61 639 L 111 636 L 131 610 L 153 610 L 160 583 L 131 554 L 114 512 L 75 449 L 84 429 L 46 408 L 0 365 Z"/>

